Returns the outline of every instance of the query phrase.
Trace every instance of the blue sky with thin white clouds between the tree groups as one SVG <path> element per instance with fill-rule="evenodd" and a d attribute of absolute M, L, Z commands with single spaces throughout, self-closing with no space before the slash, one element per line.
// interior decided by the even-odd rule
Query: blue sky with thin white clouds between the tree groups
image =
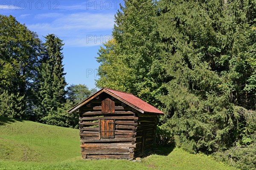
<path fill-rule="evenodd" d="M 97 52 L 111 38 L 114 15 L 122 0 L 0 0 L 0 14 L 12 15 L 41 40 L 57 35 L 65 43 L 64 71 L 68 84 L 95 88 Z"/>

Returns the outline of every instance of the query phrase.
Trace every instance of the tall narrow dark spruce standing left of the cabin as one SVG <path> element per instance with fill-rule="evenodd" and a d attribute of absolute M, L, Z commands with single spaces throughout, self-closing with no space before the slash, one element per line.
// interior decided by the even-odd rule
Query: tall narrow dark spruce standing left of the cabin
<path fill-rule="evenodd" d="M 44 57 L 41 60 L 38 79 L 38 119 L 58 113 L 65 103 L 65 73 L 62 65 L 62 40 L 49 34 L 44 43 Z"/>

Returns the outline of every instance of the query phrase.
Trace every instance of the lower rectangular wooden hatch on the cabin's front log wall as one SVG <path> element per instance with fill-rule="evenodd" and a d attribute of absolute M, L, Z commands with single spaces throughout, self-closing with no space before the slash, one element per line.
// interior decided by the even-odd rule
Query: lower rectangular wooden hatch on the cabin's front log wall
<path fill-rule="evenodd" d="M 100 122 L 100 138 L 114 139 L 115 138 L 115 120 L 99 120 Z"/>

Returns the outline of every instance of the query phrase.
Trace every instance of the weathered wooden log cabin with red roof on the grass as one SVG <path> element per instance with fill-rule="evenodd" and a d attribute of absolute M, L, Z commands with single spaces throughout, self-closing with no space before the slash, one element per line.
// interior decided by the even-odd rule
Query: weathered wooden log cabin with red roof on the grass
<path fill-rule="evenodd" d="M 138 97 L 102 88 L 69 110 L 79 115 L 82 159 L 135 159 L 154 143 L 162 111 Z"/>

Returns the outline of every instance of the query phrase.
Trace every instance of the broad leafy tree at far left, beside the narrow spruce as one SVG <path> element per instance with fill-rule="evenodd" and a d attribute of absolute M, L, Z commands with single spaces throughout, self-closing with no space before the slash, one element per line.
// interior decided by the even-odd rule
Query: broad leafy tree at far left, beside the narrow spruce
<path fill-rule="evenodd" d="M 32 82 L 40 52 L 41 42 L 35 32 L 12 15 L 0 15 L 0 115 L 27 118 L 31 114 L 35 99 L 31 94 L 35 88 Z"/>

